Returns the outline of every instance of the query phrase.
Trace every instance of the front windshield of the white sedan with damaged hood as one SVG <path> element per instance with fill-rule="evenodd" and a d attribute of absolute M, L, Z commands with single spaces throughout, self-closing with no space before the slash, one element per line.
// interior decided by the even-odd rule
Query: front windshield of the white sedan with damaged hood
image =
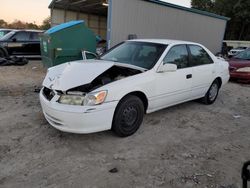
<path fill-rule="evenodd" d="M 164 44 L 127 41 L 111 49 L 100 59 L 130 64 L 149 70 L 157 63 L 166 47 L 167 45 Z"/>

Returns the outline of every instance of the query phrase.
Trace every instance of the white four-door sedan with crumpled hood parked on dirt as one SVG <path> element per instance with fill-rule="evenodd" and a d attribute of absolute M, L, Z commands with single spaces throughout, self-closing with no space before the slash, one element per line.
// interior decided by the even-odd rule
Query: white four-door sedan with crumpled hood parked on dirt
<path fill-rule="evenodd" d="M 47 121 L 71 133 L 135 133 L 145 113 L 194 99 L 215 102 L 228 62 L 185 41 L 125 41 L 97 60 L 48 70 L 40 92 Z"/>

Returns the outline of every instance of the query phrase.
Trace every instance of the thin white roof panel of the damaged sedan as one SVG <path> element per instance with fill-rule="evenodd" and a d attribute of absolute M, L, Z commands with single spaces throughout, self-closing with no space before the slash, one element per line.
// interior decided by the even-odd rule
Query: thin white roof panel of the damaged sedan
<path fill-rule="evenodd" d="M 158 44 L 165 44 L 165 45 L 170 45 L 170 44 L 195 44 L 197 45 L 198 44 L 198 43 L 189 42 L 189 41 L 170 40 L 170 39 L 133 39 L 133 40 L 128 40 L 128 41 L 150 42 L 150 43 L 158 43 Z"/>

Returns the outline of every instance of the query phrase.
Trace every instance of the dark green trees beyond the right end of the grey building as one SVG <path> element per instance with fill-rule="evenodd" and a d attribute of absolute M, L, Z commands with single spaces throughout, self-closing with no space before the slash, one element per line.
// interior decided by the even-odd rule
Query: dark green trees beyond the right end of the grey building
<path fill-rule="evenodd" d="M 250 40 L 249 0 L 192 0 L 192 8 L 213 12 L 231 18 L 225 39 Z"/>

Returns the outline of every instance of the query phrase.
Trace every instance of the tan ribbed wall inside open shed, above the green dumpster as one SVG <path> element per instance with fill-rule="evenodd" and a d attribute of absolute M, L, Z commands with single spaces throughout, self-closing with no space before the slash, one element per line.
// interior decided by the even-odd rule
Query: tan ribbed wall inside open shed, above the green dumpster
<path fill-rule="evenodd" d="M 52 9 L 51 18 L 52 26 L 71 20 L 84 20 L 86 25 L 90 29 L 92 29 L 95 34 L 100 35 L 102 38 L 106 39 L 107 18 L 104 16 L 83 14 L 80 12 L 73 12 L 61 9 Z"/>

